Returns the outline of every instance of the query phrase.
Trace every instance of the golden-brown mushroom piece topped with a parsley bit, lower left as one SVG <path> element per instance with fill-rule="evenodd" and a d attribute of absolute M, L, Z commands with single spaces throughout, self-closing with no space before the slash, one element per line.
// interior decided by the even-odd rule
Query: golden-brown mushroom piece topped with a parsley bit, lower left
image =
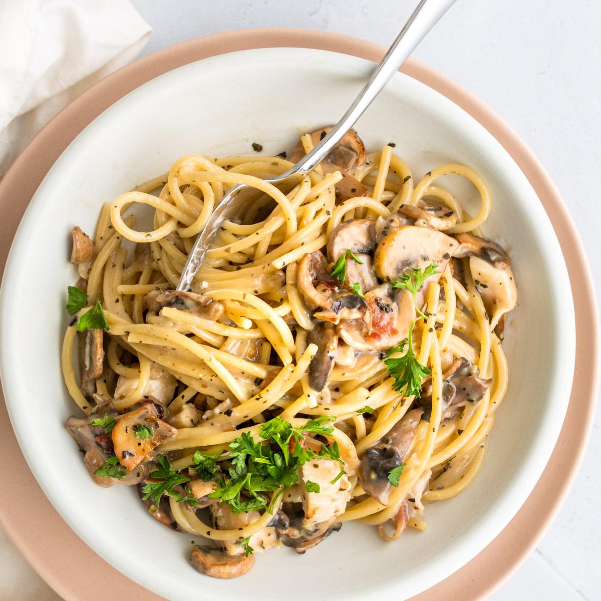
<path fill-rule="evenodd" d="M 119 463 L 131 472 L 154 448 L 175 433 L 175 428 L 158 418 L 156 407 L 146 403 L 123 415 L 113 428 L 115 455 Z"/>

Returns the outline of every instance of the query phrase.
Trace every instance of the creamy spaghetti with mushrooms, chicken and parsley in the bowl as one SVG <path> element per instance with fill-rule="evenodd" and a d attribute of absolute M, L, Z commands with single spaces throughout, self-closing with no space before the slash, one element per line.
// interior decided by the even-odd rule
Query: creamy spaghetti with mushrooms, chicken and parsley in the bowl
<path fill-rule="evenodd" d="M 367 154 L 352 130 L 288 189 L 264 181 L 327 131 L 288 160 L 183 157 L 106 204 L 94 240 L 73 230 L 61 362 L 86 417 L 66 427 L 96 483 L 135 484 L 155 519 L 206 538 L 191 561 L 219 578 L 348 520 L 385 540 L 426 529 L 424 504 L 477 475 L 507 388 L 517 291 L 480 237 L 486 182 L 457 164 L 414 182 L 392 145 Z M 448 174 L 475 186 L 476 215 Z M 257 202 L 221 224 L 192 290 L 173 290 L 241 183 Z M 124 216 L 133 204 L 153 210 L 150 231 Z"/>

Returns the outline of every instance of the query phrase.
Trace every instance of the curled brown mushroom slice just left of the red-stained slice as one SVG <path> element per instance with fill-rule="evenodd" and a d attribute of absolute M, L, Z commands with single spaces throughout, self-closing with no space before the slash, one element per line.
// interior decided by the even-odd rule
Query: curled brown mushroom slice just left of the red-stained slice
<path fill-rule="evenodd" d="M 339 323 L 341 319 L 368 320 L 365 299 L 341 288 L 327 267 L 328 260 L 315 251 L 304 255 L 296 272 L 296 287 L 307 304 L 322 309 L 314 316 L 331 323 Z"/>

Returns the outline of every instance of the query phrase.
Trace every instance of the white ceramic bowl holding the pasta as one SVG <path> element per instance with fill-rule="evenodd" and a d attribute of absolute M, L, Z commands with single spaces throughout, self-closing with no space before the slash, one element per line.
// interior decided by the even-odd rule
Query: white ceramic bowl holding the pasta
<path fill-rule="evenodd" d="M 334 123 L 373 64 L 322 50 L 231 53 L 166 73 L 93 121 L 50 169 L 14 239 L 2 285 L 1 376 L 23 454 L 61 516 L 106 561 L 172 600 L 410 597 L 441 581 L 509 522 L 545 468 L 572 383 L 573 305 L 560 246 L 526 178 L 495 139 L 445 97 L 397 74 L 357 124 L 368 149 L 395 142 L 413 173 L 447 162 L 477 169 L 494 204 L 484 233 L 514 260 L 519 307 L 504 343 L 510 386 L 477 480 L 457 498 L 429 505 L 426 532 L 384 543 L 373 528 L 344 528 L 303 556 L 257 556 L 249 575 L 205 578 L 188 564 L 191 535 L 148 516 L 134 490 L 94 485 L 64 419 L 76 413 L 59 352 L 67 315 L 69 231 L 93 232 L 100 205 L 178 157 L 279 153 L 299 133 Z M 449 177 L 462 201 L 475 193 Z M 474 205 L 472 204 L 472 207 Z M 68 569 L 66 566 L 65 569 Z M 102 586 L 95 583 L 94 586 Z"/>

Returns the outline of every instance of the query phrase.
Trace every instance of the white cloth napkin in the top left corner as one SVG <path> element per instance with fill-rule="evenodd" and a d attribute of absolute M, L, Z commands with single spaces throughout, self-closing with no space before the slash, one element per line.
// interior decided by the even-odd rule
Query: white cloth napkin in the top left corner
<path fill-rule="evenodd" d="M 135 58 L 150 33 L 128 0 L 0 0 L 0 177 L 56 113 Z"/>

